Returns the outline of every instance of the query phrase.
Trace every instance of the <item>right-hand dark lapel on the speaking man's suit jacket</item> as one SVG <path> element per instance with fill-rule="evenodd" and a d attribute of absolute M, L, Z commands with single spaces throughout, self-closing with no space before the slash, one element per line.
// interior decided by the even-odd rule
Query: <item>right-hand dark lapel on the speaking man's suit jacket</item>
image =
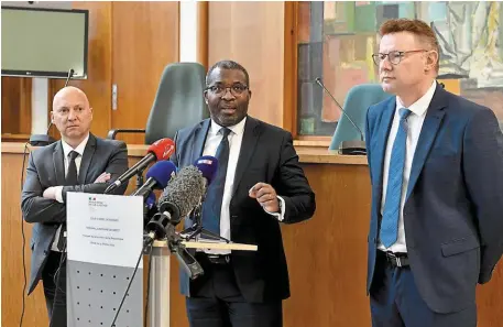
<path fill-rule="evenodd" d="M 238 166 L 236 167 L 234 183 L 232 187 L 232 195 L 238 188 L 239 183 L 248 167 L 253 153 L 255 152 L 256 142 L 259 141 L 260 123 L 256 119 L 247 117 L 247 123 L 244 126 L 243 140 L 241 142 L 241 149 L 239 150 Z"/>

